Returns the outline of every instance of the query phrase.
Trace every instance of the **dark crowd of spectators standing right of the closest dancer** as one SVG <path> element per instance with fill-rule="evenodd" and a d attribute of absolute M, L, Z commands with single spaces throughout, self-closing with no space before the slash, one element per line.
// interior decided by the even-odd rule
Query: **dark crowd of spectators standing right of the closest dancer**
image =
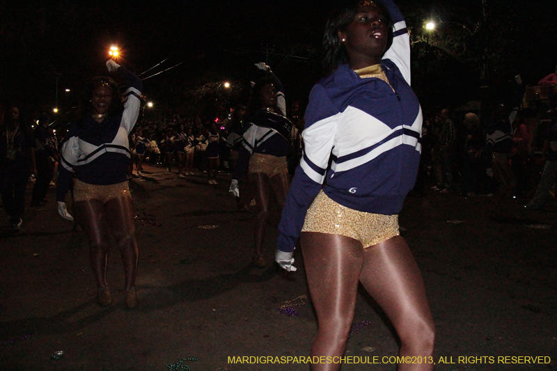
<path fill-rule="evenodd" d="M 555 114 L 542 113 L 528 132 L 523 113 L 511 113 L 499 103 L 487 117 L 448 109 L 426 116 L 416 192 L 423 194 L 429 180 L 441 194 L 531 198 L 544 162 L 555 155 Z"/>

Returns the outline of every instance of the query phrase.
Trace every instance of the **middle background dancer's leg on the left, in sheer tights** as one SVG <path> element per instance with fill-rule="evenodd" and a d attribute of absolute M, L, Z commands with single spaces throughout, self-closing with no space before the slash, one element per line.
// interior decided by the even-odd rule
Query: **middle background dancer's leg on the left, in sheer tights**
<path fill-rule="evenodd" d="M 269 177 L 263 173 L 253 173 L 249 175 L 253 196 L 257 203 L 257 216 L 253 226 L 253 239 L 256 251 L 253 254 L 254 260 L 263 254 L 263 240 L 265 239 L 265 228 L 269 219 Z M 265 265 L 265 262 L 262 262 Z"/>

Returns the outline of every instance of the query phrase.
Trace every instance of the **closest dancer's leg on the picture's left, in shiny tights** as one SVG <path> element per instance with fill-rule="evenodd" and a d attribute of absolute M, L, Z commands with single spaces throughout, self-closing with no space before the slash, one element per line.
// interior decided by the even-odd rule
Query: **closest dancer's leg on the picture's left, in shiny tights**
<path fill-rule="evenodd" d="M 356 308 L 363 248 L 350 237 L 301 233 L 311 301 L 317 313 L 317 336 L 311 356 L 343 356 Z M 340 363 L 318 363 L 313 371 L 340 370 Z"/>

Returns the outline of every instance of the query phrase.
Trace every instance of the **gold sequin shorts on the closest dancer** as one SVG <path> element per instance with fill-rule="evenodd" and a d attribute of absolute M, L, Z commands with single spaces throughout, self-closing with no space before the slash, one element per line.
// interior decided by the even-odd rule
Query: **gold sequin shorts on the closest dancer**
<path fill-rule="evenodd" d="M 400 235 L 398 215 L 372 214 L 336 203 L 320 191 L 306 214 L 302 232 L 320 232 L 357 239 L 363 248 Z"/>

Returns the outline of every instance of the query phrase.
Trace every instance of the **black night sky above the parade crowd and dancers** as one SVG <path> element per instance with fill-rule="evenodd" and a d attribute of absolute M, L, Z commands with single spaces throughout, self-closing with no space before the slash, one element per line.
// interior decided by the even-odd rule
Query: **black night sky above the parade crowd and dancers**
<path fill-rule="evenodd" d="M 482 0 L 398 1 L 414 42 L 413 86 L 426 108 L 478 99 L 486 84 L 505 95 L 517 73 L 536 84 L 554 72 L 555 1 L 485 1 L 485 8 Z M 85 81 L 106 74 L 110 45 L 123 49 L 121 63 L 136 74 L 168 58 L 142 77 L 182 63 L 144 81 L 156 116 L 207 115 L 212 108 L 199 101 L 209 96 L 235 104 L 258 78 L 253 63 L 259 61 L 281 78 L 287 100 L 304 101 L 322 77 L 322 34 L 336 3 L 1 1 L 0 104 L 52 111 L 58 77 L 58 106 L 70 109 Z M 426 19 L 438 24 L 429 45 Z M 221 81 L 233 89 L 218 88 Z"/>

